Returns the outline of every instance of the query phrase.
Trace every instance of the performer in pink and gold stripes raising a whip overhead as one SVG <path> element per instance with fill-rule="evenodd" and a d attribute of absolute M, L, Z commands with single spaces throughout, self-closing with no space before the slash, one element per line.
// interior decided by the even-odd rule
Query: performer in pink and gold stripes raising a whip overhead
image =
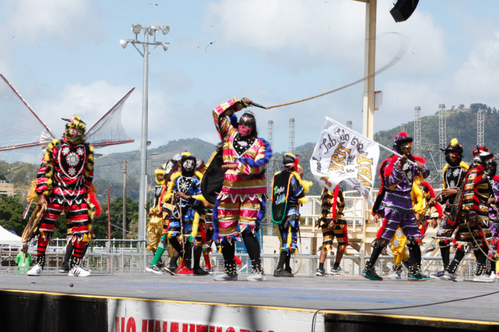
<path fill-rule="evenodd" d="M 221 239 L 226 273 L 215 276 L 215 280 L 237 280 L 234 240 L 241 240 L 240 236 L 251 260 L 251 275 L 247 280 L 265 280 L 260 244 L 254 233 L 260 228 L 265 213 L 264 170 L 272 151 L 268 142 L 257 138 L 256 120 L 251 112 L 241 116 L 238 128 L 227 118 L 251 103 L 246 98 L 234 98 L 213 110 L 215 127 L 222 140 L 222 170 L 226 171 L 213 210 L 213 236 Z"/>

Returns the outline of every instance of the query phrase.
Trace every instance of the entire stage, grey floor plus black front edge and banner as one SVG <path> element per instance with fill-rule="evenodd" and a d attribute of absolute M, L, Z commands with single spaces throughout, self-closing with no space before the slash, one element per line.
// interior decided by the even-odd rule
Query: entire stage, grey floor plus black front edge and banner
<path fill-rule="evenodd" d="M 54 270 L 39 277 L 1 273 L 1 321 L 10 328 L 27 324 L 19 331 L 32 330 L 29 323 L 14 322 L 12 314 L 24 316 L 14 303 L 34 301 L 41 314 L 76 301 L 89 306 L 86 315 L 91 315 L 95 305 L 101 306 L 94 308 L 98 331 L 311 331 L 319 309 L 315 331 L 362 331 L 378 323 L 398 331 L 499 329 L 498 282 L 377 282 L 361 276 L 271 275 L 265 282 L 249 282 L 246 276 L 215 282 L 211 276 L 152 273 L 94 272 L 89 277 L 69 277 Z M 492 292 L 498 293 L 478 297 Z M 457 301 L 468 297 L 476 298 Z M 453 302 L 427 305 L 443 301 Z M 396 309 L 418 305 L 425 306 Z M 53 324 L 62 329 L 58 321 Z"/>

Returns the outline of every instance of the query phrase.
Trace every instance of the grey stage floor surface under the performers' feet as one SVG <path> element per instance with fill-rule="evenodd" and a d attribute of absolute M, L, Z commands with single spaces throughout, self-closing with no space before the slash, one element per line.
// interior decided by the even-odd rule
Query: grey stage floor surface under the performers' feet
<path fill-rule="evenodd" d="M 238 281 L 216 282 L 212 276 L 138 272 L 93 272 L 89 277 L 69 277 L 55 271 L 45 271 L 39 277 L 1 272 L 0 288 L 108 298 L 360 311 L 373 315 L 486 321 L 493 325 L 499 323 L 499 282 L 436 279 L 424 282 L 404 279 L 370 281 L 361 276 L 276 278 L 271 275 L 264 282 L 249 282 L 246 277 L 240 275 Z M 471 299 L 460 301 L 463 298 Z M 432 305 L 443 301 L 452 302 Z M 424 306 L 396 309 L 419 305 Z M 392 309 L 381 310 L 383 308 Z"/>

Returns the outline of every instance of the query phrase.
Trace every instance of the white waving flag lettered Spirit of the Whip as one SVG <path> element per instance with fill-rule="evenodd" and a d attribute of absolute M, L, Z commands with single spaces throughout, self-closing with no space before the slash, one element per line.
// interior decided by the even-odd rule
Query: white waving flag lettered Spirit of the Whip
<path fill-rule="evenodd" d="M 326 116 L 310 158 L 310 170 L 330 191 L 345 181 L 372 205 L 378 158 L 378 143 Z"/>

